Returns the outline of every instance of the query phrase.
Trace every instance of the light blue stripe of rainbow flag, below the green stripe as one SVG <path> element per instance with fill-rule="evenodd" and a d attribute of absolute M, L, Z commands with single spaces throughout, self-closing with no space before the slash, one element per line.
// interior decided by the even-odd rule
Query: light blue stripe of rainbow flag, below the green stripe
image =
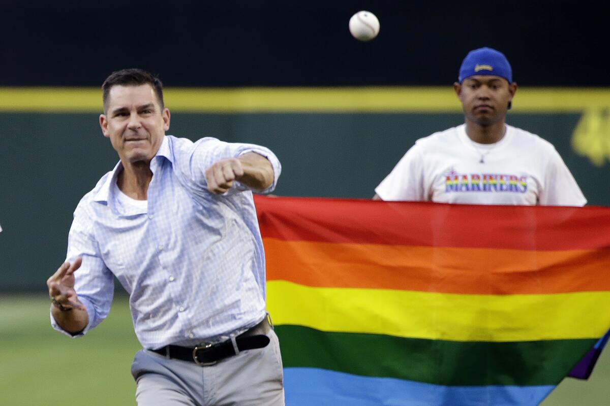
<path fill-rule="evenodd" d="M 554 386 L 447 387 L 318 368 L 284 368 L 284 388 L 286 406 L 533 406 Z"/>

